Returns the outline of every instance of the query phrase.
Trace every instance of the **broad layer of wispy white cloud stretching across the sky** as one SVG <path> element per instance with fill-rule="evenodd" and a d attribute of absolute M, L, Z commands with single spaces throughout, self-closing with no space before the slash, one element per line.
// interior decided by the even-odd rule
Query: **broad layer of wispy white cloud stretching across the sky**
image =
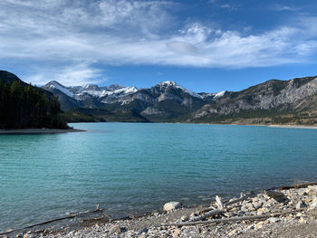
<path fill-rule="evenodd" d="M 179 29 L 173 16 L 178 6 L 155 0 L 2 0 L 0 62 L 57 65 L 36 67 L 29 81 L 71 85 L 101 77 L 90 62 L 245 68 L 305 62 L 317 52 L 315 18 L 257 34 L 199 23 Z"/>

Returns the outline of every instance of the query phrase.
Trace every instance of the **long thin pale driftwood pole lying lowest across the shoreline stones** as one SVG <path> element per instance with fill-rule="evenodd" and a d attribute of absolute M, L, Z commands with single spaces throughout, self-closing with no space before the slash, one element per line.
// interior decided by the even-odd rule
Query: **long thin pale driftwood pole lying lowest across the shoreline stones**
<path fill-rule="evenodd" d="M 196 225 L 196 224 L 226 224 L 226 223 L 233 223 L 233 222 L 241 222 L 241 221 L 252 221 L 252 220 L 260 220 L 266 219 L 274 216 L 280 216 L 283 214 L 293 214 L 298 213 L 299 211 L 303 211 L 303 209 L 299 210 L 292 210 L 283 213 L 277 214 L 261 214 L 261 215 L 251 215 L 251 216 L 238 216 L 238 217 L 231 217 L 231 218 L 224 218 L 224 219 L 214 219 L 210 221 L 198 221 L 198 222 L 186 222 L 186 223 L 179 223 L 179 224 L 161 224 L 161 226 L 184 226 L 184 225 Z"/>

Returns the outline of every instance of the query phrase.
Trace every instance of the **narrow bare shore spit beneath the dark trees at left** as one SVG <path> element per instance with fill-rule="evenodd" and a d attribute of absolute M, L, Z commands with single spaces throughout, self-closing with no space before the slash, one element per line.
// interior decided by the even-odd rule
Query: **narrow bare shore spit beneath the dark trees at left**
<path fill-rule="evenodd" d="M 20 134 L 58 134 L 68 132 L 83 132 L 83 129 L 0 129 L 0 135 Z"/>

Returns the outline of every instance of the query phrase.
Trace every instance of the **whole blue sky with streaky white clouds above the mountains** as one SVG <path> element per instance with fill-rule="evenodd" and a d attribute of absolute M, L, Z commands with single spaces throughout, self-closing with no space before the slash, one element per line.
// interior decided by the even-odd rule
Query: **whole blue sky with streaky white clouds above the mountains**
<path fill-rule="evenodd" d="M 197 92 L 317 75 L 312 0 L 1 0 L 0 70 Z"/>

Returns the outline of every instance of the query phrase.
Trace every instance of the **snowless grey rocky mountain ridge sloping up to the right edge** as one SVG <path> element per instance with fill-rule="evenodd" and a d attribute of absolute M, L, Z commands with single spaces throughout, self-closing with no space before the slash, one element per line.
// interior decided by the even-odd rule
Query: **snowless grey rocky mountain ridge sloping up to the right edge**
<path fill-rule="evenodd" d="M 316 98 L 316 77 L 265 81 L 207 103 L 197 110 L 192 121 L 316 124 Z"/>

